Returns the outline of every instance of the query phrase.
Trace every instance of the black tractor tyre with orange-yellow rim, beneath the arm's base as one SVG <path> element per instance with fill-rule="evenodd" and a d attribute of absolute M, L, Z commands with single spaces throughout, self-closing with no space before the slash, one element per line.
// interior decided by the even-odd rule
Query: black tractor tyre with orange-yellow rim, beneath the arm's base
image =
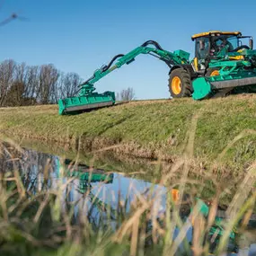
<path fill-rule="evenodd" d="M 176 77 L 179 77 L 181 81 L 180 90 L 175 90 L 175 88 L 173 88 L 174 85 L 172 82 L 174 81 L 173 79 L 177 79 Z M 169 92 L 172 98 L 183 98 L 191 96 L 192 89 L 190 74 L 184 68 L 179 67 L 172 70 L 169 78 Z"/>

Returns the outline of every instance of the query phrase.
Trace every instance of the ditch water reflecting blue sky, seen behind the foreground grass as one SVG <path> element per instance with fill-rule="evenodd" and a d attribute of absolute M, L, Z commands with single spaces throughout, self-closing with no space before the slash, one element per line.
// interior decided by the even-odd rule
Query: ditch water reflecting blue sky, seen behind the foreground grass
<path fill-rule="evenodd" d="M 68 159 L 62 161 L 52 154 L 42 154 L 29 149 L 25 153 L 21 154 L 21 161 L 6 161 L 10 160 L 13 154 L 5 150 L 4 157 L 0 158 L 1 171 L 13 170 L 13 167 L 19 169 L 22 172 L 25 188 L 33 194 L 41 190 L 57 189 L 67 182 L 61 202 L 63 210 L 74 207 L 76 220 L 80 216 L 87 215 L 88 221 L 95 230 L 107 224 L 116 229 L 122 216 L 136 207 L 134 202 L 140 199 L 154 199 L 152 212 L 155 216 L 162 216 L 165 213 L 168 191 L 161 185 L 129 178 L 118 172 L 92 169 L 84 163 L 74 164 Z M 203 201 L 199 200 L 199 202 L 202 204 L 201 211 L 207 214 L 207 205 Z M 185 219 L 185 222 L 189 225 L 187 237 L 192 243 L 190 219 Z M 150 228 L 150 223 L 148 228 Z M 216 225 L 214 231 L 212 237 L 218 235 L 216 232 L 220 232 L 220 225 Z M 176 228 L 174 238 L 178 234 L 179 229 Z M 233 255 L 256 253 L 256 244 L 250 242 L 243 243 L 243 247 L 238 250 L 235 234 L 232 235 L 234 237 L 231 239 L 230 250 L 236 251 Z M 180 248 L 182 250 L 182 243 Z"/>

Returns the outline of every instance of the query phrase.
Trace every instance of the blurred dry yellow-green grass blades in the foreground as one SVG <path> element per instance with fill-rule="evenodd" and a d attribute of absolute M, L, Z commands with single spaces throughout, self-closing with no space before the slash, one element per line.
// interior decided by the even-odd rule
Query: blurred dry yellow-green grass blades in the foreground
<path fill-rule="evenodd" d="M 162 214 L 157 213 L 160 203 L 157 190 L 136 193 L 136 197 L 129 201 L 129 210 L 127 199 L 118 199 L 116 208 L 99 204 L 97 191 L 90 196 L 90 181 L 85 191 L 75 187 L 81 197 L 73 198 L 72 182 L 75 180 L 61 165 L 56 179 L 49 161 L 45 161 L 44 166 L 30 168 L 34 157 L 12 142 L 6 145 L 0 141 L 0 254 L 188 256 L 213 252 L 223 255 L 230 242 L 229 251 L 237 251 L 243 239 L 250 245 L 250 240 L 255 241 L 255 234 L 248 230 L 248 224 L 255 212 L 256 165 L 244 170 L 242 179 L 230 183 L 217 182 L 214 173 L 198 173 L 191 169 L 189 163 L 196 128 L 195 122 L 193 124 L 185 154 L 171 164 L 169 171 L 157 182 L 166 188 L 166 210 Z M 73 167 L 70 165 L 69 171 Z M 162 168 L 162 163 L 155 168 Z M 124 172 L 130 175 L 126 170 Z M 196 172 L 198 176 L 193 178 L 190 172 Z M 203 190 L 208 189 L 208 181 L 212 181 L 214 193 L 205 216 L 199 211 L 200 200 L 197 198 L 200 199 Z M 173 188 L 179 190 L 177 200 L 173 198 Z M 218 225 L 216 209 L 225 195 L 231 196 L 227 208 L 231 218 Z M 88 207 L 89 201 L 92 204 Z M 113 201 L 117 198 L 113 197 Z M 96 207 L 98 213 L 92 215 Z M 223 228 L 222 235 L 211 234 L 214 225 Z M 190 227 L 193 237 L 189 243 L 186 234 Z M 180 233 L 175 236 L 173 232 L 177 228 Z M 237 233 L 230 241 L 234 228 Z"/>

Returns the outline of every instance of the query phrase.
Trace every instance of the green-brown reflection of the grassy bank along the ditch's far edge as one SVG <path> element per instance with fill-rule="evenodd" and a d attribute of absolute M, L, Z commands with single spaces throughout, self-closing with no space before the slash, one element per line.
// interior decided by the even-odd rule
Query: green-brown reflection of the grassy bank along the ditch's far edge
<path fill-rule="evenodd" d="M 91 164 L 94 168 L 102 169 L 105 172 L 124 173 L 130 178 L 152 183 L 159 183 L 163 175 L 170 172 L 170 166 L 172 166 L 172 163 L 149 161 L 148 159 L 131 157 L 130 155 L 127 156 L 125 154 L 113 154 L 108 150 L 103 151 L 101 154 L 84 154 L 83 152 L 77 154 L 77 152 L 71 149 L 66 150 L 64 147 L 58 146 L 57 144 L 49 145 L 45 141 L 31 141 L 30 139 L 22 139 L 21 141 L 18 137 L 13 139 L 26 149 L 32 149 L 44 154 L 57 155 L 60 158 L 78 161 L 79 163 Z M 219 169 L 219 172 L 213 174 L 209 172 L 210 167 L 208 168 L 208 172 L 204 172 L 204 167 L 205 166 L 201 166 L 199 161 L 195 161 L 195 159 L 190 161 L 189 178 L 199 181 L 198 185 L 195 187 L 197 187 L 198 190 L 201 190 L 201 182 L 205 183 L 204 188 L 200 191 L 200 197 L 202 199 L 211 199 L 216 193 L 215 182 L 225 182 L 225 188 L 229 188 L 228 190 L 230 190 L 230 194 L 225 194 L 225 197 L 222 197 L 220 204 L 224 207 L 228 206 L 236 191 L 234 184 L 240 183 L 244 173 L 246 173 L 244 172 L 245 170 L 243 170 L 243 172 L 241 172 L 241 170 L 240 172 L 234 172 L 233 170 L 223 168 Z M 182 170 L 175 173 L 179 178 L 182 174 Z M 214 179 L 211 178 L 210 180 L 207 180 L 208 175 L 211 174 L 214 175 Z M 176 181 L 177 178 L 173 180 L 173 182 Z M 190 189 L 191 188 L 188 188 L 187 191 L 190 192 Z"/>

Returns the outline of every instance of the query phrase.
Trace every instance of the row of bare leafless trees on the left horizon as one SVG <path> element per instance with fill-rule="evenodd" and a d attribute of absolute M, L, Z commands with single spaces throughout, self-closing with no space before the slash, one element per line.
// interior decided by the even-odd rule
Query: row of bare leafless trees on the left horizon
<path fill-rule="evenodd" d="M 82 78 L 52 64 L 28 66 L 13 59 L 0 64 L 0 107 L 55 104 L 75 95 Z"/>

